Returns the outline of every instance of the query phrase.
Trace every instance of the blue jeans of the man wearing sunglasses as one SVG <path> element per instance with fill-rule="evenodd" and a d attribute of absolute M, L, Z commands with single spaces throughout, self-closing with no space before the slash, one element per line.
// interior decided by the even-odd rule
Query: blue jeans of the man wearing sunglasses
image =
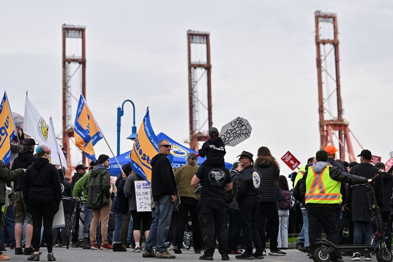
<path fill-rule="evenodd" d="M 156 244 L 157 252 L 162 253 L 167 250 L 165 240 L 168 236 L 170 218 L 173 211 L 172 197 L 170 195 L 163 196 L 159 201 L 154 201 L 154 204 L 156 205 L 154 220 L 151 223 L 144 249 L 152 253 L 153 245 Z"/>

